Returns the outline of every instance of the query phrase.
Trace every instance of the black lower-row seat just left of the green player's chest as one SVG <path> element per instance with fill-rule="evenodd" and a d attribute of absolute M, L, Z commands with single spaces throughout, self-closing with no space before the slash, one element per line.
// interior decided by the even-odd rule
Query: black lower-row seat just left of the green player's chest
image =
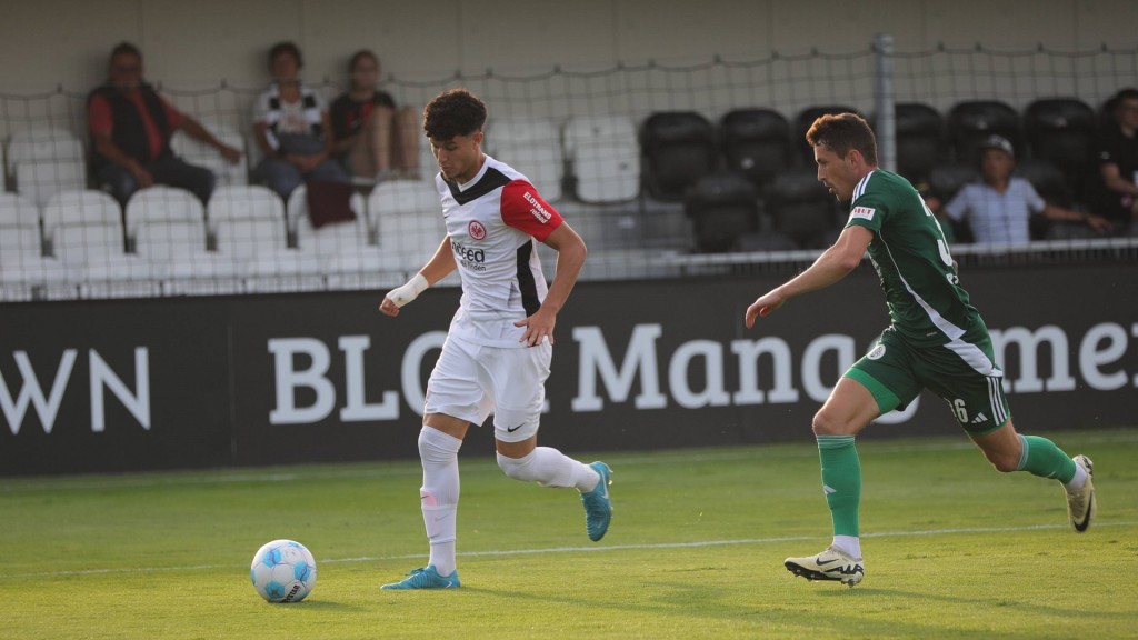
<path fill-rule="evenodd" d="M 776 175 L 767 192 L 767 211 L 774 230 L 800 248 L 828 246 L 839 229 L 838 200 L 818 182 L 814 169 L 791 169 Z"/>

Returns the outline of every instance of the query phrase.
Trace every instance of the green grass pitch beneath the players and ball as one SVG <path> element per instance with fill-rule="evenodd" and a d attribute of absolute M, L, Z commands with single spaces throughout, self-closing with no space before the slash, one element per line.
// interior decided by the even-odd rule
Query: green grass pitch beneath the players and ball
<path fill-rule="evenodd" d="M 0 478 L 0 638 L 1136 638 L 1138 429 L 1049 435 L 1095 461 L 1086 534 L 1057 483 L 992 471 L 963 435 L 860 442 L 855 589 L 782 566 L 828 543 L 806 442 L 602 456 L 600 543 L 576 492 L 462 456 L 445 592 L 379 590 L 426 563 L 415 461 Z M 275 538 L 316 558 L 304 602 L 249 583 Z"/>

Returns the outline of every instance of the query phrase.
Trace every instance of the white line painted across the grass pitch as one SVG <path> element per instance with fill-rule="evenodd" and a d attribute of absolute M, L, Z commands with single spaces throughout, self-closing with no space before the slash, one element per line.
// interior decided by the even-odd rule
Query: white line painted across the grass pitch
<path fill-rule="evenodd" d="M 1129 527 L 1138 526 L 1138 520 L 1133 522 L 1119 522 L 1119 523 L 1095 523 L 1095 528 L 1105 527 Z M 958 534 L 970 534 L 970 533 L 1014 533 L 1014 532 L 1025 532 L 1025 531 L 1050 531 L 1066 528 L 1066 525 L 1026 525 L 1026 526 L 1007 526 L 1007 527 L 965 527 L 965 528 L 933 528 L 923 531 L 889 531 L 879 533 L 866 533 L 861 538 L 910 538 L 921 535 L 958 535 Z M 533 556 L 537 553 L 579 553 L 579 552 L 595 552 L 595 551 L 635 551 L 645 549 L 692 549 L 692 548 L 703 548 L 703 547 L 726 547 L 734 544 L 772 544 L 778 542 L 802 542 L 809 540 L 818 540 L 822 536 L 818 535 L 791 535 L 784 538 L 743 538 L 736 540 L 704 540 L 696 542 L 659 542 L 653 544 L 610 544 L 607 547 L 550 547 L 545 549 L 511 549 L 505 551 L 464 551 L 459 553 L 459 556 L 464 558 L 477 558 L 477 557 L 508 557 L 508 556 Z M 421 559 L 423 553 L 411 553 L 404 556 L 361 556 L 357 558 L 321 558 L 318 560 L 318 565 L 322 563 L 376 563 L 384 560 L 409 560 L 409 559 Z M 133 567 L 133 568 L 108 568 L 108 569 L 84 569 L 84 571 L 72 571 L 72 572 L 33 572 L 33 573 L 16 573 L 16 574 L 0 574 L 0 581 L 3 580 L 17 580 L 27 577 L 59 577 L 59 576 L 80 576 L 80 575 L 106 575 L 106 574 L 132 574 L 132 573 L 162 573 L 162 572 L 175 572 L 175 571 L 207 571 L 207 569 L 221 569 L 230 568 L 236 569 L 233 565 L 192 565 L 183 567 Z"/>

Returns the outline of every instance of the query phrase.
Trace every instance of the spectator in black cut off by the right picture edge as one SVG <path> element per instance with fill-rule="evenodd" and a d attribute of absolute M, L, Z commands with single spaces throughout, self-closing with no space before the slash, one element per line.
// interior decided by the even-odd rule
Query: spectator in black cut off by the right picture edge
<path fill-rule="evenodd" d="M 1113 116 L 1099 145 L 1103 212 L 1120 231 L 1138 230 L 1138 89 L 1123 89 L 1108 102 Z"/>

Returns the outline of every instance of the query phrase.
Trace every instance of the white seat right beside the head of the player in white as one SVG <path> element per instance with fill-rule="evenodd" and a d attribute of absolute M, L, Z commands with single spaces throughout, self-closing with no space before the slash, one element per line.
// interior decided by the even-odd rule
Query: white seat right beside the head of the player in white
<path fill-rule="evenodd" d="M 486 126 L 486 150 L 529 178 L 546 202 L 561 198 L 564 158 L 552 120 L 492 116 Z"/>

